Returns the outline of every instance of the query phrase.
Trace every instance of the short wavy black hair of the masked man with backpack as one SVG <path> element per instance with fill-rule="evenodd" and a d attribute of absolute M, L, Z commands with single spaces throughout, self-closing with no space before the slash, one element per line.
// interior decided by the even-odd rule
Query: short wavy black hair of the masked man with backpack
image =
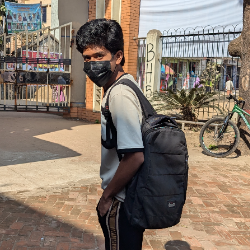
<path fill-rule="evenodd" d="M 124 53 L 124 40 L 122 28 L 115 20 L 105 18 L 94 19 L 85 23 L 76 34 L 76 48 L 82 54 L 85 49 L 92 46 L 104 47 L 112 55 L 121 50 Z M 121 66 L 125 58 L 121 61 Z"/>

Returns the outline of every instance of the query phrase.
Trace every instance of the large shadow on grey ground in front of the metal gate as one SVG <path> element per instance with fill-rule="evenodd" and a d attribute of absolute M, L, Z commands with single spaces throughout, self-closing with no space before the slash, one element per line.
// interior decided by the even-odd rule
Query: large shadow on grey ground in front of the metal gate
<path fill-rule="evenodd" d="M 0 112 L 0 121 L 0 166 L 80 156 L 81 153 L 72 147 L 62 145 L 68 140 L 64 134 L 76 126 L 89 125 L 41 113 Z M 62 144 L 48 141 L 56 131 L 62 131 L 59 138 L 54 135 L 54 139 Z M 48 140 L 36 138 L 40 135 L 46 135 Z"/>

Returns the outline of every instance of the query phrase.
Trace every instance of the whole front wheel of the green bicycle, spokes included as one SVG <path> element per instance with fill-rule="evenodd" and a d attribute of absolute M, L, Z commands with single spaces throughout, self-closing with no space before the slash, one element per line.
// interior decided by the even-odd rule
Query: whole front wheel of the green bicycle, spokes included
<path fill-rule="evenodd" d="M 201 128 L 200 145 L 210 156 L 226 157 L 232 154 L 238 146 L 240 140 L 238 127 L 229 120 L 226 130 L 223 132 L 224 121 L 225 118 L 213 118 Z"/>

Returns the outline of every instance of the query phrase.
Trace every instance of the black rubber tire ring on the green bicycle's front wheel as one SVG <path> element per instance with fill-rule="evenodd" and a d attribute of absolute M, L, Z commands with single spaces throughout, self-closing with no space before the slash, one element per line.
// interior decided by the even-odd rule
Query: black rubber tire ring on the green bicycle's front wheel
<path fill-rule="evenodd" d="M 204 150 L 204 152 L 205 152 L 207 155 L 213 156 L 213 157 L 216 157 L 216 158 L 223 158 L 223 157 L 226 157 L 226 156 L 232 154 L 232 153 L 236 150 L 236 148 L 237 148 L 237 146 L 238 146 L 238 144 L 239 144 L 239 141 L 240 141 L 240 131 L 239 131 L 238 127 L 236 126 L 236 124 L 234 124 L 232 121 L 229 120 L 229 121 L 228 121 L 228 126 L 231 126 L 231 127 L 233 128 L 234 132 L 235 132 L 235 141 L 234 141 L 233 146 L 231 146 L 231 147 L 229 148 L 229 150 L 226 151 L 225 153 L 217 153 L 217 154 L 216 154 L 216 153 L 214 153 L 214 152 L 211 152 L 211 151 L 204 145 L 203 135 L 204 135 L 205 130 L 208 128 L 208 126 L 209 126 L 210 124 L 215 123 L 215 122 L 219 122 L 219 121 L 223 123 L 223 122 L 225 121 L 225 118 L 213 118 L 213 119 L 207 121 L 207 122 L 203 125 L 203 127 L 201 128 L 199 140 L 200 140 L 200 145 L 201 145 L 202 149 Z M 223 134 L 224 134 L 224 133 L 223 133 Z"/>

